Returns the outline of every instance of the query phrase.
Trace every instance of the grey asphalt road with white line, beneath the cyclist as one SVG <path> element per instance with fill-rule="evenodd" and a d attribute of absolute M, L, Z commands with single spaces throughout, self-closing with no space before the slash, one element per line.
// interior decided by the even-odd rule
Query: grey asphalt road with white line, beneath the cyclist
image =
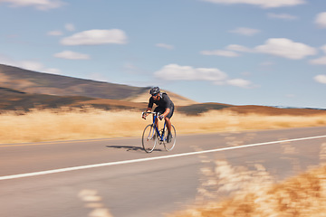
<path fill-rule="evenodd" d="M 326 127 L 177 136 L 151 154 L 139 137 L 0 145 L 0 216 L 164 216 L 233 193 L 224 174 L 277 182 L 325 160 Z"/>

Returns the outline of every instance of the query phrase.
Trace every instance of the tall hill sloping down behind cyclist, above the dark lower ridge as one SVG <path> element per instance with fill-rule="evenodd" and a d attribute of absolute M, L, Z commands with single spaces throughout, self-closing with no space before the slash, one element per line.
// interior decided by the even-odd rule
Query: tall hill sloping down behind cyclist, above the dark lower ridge
<path fill-rule="evenodd" d="M 96 80 L 83 80 L 62 75 L 37 71 L 27 71 L 13 66 L 0 64 L 0 87 L 21 90 L 32 94 L 54 96 L 82 96 L 98 99 L 118 99 L 131 102 L 149 100 L 149 87 L 133 87 Z M 196 103 L 175 93 L 173 99 L 177 104 Z"/>

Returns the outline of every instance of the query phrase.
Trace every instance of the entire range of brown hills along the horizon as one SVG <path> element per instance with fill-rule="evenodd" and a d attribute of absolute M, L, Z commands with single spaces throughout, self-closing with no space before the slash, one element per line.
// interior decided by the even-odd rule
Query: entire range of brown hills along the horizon
<path fill-rule="evenodd" d="M 101 109 L 144 110 L 149 101 L 149 87 L 132 87 L 96 80 L 27 71 L 0 64 L 0 110 L 29 110 L 91 106 Z M 315 115 L 320 109 L 279 109 L 264 106 L 235 106 L 221 103 L 197 103 L 167 91 L 177 112 L 198 115 L 209 110 L 238 114 Z"/>

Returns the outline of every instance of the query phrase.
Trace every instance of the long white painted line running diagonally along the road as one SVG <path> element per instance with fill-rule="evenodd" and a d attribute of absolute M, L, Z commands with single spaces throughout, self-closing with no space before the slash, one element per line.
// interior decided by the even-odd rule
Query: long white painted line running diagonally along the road
<path fill-rule="evenodd" d="M 222 147 L 222 148 L 217 148 L 217 149 L 211 149 L 211 150 L 205 150 L 205 151 L 197 151 L 197 152 L 189 152 L 189 153 L 176 154 L 176 155 L 170 155 L 170 156 L 155 156 L 155 157 L 147 157 L 147 158 L 140 158 L 140 159 L 134 159 L 134 160 L 125 160 L 125 161 L 118 161 L 118 162 L 102 163 L 102 164 L 96 164 L 96 165 L 80 165 L 80 166 L 73 166 L 73 167 L 67 167 L 67 168 L 62 168 L 62 169 L 53 169 L 53 170 L 34 172 L 34 173 L 27 173 L 27 174 L 20 174 L 20 175 L 5 175 L 5 176 L 0 176 L 0 181 L 1 180 L 16 179 L 16 178 L 24 178 L 24 177 L 30 177 L 30 176 L 36 176 L 36 175 L 57 174 L 57 173 L 62 173 L 62 172 L 74 171 L 74 170 L 96 168 L 96 167 L 101 167 L 101 166 L 126 165 L 126 164 L 139 163 L 139 162 L 145 162 L 145 161 L 152 161 L 152 160 L 179 157 L 179 156 L 194 156 L 194 155 L 200 155 L 200 154 L 206 154 L 206 153 L 212 153 L 212 152 L 221 152 L 221 151 L 227 151 L 227 150 L 233 150 L 233 149 L 240 149 L 240 148 L 245 148 L 245 147 L 266 146 L 266 145 L 272 145 L 272 144 L 278 144 L 278 143 L 302 141 L 302 140 L 316 139 L 316 138 L 322 138 L 322 137 L 326 137 L 326 135 L 317 136 L 317 137 L 293 138 L 293 139 L 286 139 L 286 140 L 280 140 L 280 141 L 249 144 L 249 145 L 244 145 L 244 146 Z"/>

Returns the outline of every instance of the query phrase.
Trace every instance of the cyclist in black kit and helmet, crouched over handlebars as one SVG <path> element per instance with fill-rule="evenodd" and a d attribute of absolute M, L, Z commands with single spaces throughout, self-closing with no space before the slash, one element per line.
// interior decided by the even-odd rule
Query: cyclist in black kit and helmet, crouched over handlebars
<path fill-rule="evenodd" d="M 168 127 L 168 143 L 171 142 L 171 120 L 174 112 L 174 104 L 171 99 L 169 99 L 168 94 L 161 92 L 158 87 L 154 87 L 149 90 L 151 97 L 149 99 L 149 106 L 146 111 L 151 111 L 153 109 L 153 104 L 155 103 L 158 107 L 154 109 L 155 112 L 159 112 L 161 115 L 158 116 L 160 120 L 165 119 Z M 144 115 L 142 118 L 146 118 Z M 156 119 L 156 124 L 158 126 L 158 119 Z"/>

